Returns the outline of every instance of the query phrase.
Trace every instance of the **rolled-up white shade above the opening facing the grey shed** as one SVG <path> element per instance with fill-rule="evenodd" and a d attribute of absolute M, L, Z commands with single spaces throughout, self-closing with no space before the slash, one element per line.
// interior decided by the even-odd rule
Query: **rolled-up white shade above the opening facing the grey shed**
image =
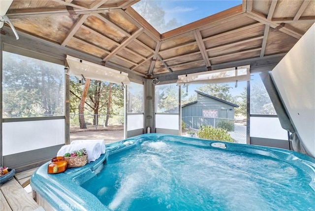
<path fill-rule="evenodd" d="M 235 81 L 250 80 L 250 66 L 197 72 L 186 75 L 179 75 L 177 85 L 202 84 L 202 83 L 229 83 Z"/>

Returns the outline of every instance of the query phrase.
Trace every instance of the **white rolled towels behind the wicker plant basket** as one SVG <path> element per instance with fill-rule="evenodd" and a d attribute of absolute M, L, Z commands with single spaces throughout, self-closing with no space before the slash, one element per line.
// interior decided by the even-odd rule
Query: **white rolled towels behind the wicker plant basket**
<path fill-rule="evenodd" d="M 59 149 L 57 156 L 63 156 L 65 153 L 69 152 L 72 153 L 75 150 L 80 150 L 82 148 L 85 148 L 87 150 L 88 154 L 88 162 L 95 161 L 100 157 L 100 144 L 99 143 L 76 143 L 76 144 L 68 144 L 64 145 Z"/>

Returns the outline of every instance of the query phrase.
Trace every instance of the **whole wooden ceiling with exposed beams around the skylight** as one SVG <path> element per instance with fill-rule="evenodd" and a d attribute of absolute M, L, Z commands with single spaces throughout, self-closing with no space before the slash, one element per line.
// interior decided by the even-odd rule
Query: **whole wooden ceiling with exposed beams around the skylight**
<path fill-rule="evenodd" d="M 263 65 L 282 58 L 315 23 L 315 0 L 243 0 L 159 34 L 131 7 L 137 1 L 14 0 L 7 16 L 20 33 L 140 76 Z"/>

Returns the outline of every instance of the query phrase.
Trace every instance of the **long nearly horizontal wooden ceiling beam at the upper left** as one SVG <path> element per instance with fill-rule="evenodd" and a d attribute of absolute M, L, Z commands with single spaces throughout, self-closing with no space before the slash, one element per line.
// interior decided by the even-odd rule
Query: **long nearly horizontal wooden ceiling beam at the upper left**
<path fill-rule="evenodd" d="M 77 15 L 104 13 L 114 10 L 121 10 L 117 8 L 102 8 L 102 9 L 77 9 L 73 8 Z M 10 13 L 6 14 L 10 19 L 15 18 L 29 18 L 47 15 L 69 15 L 68 10 L 65 7 L 50 7 L 50 8 L 30 8 L 30 9 L 14 9 Z"/>

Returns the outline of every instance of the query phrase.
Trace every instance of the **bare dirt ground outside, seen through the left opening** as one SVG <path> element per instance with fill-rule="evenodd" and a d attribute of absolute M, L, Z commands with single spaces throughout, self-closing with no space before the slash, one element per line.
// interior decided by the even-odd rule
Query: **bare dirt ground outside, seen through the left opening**
<path fill-rule="evenodd" d="M 105 144 L 124 139 L 124 126 L 109 126 L 103 128 L 98 126 L 88 126 L 87 129 L 70 128 L 70 141 L 81 139 L 104 139 Z"/>

